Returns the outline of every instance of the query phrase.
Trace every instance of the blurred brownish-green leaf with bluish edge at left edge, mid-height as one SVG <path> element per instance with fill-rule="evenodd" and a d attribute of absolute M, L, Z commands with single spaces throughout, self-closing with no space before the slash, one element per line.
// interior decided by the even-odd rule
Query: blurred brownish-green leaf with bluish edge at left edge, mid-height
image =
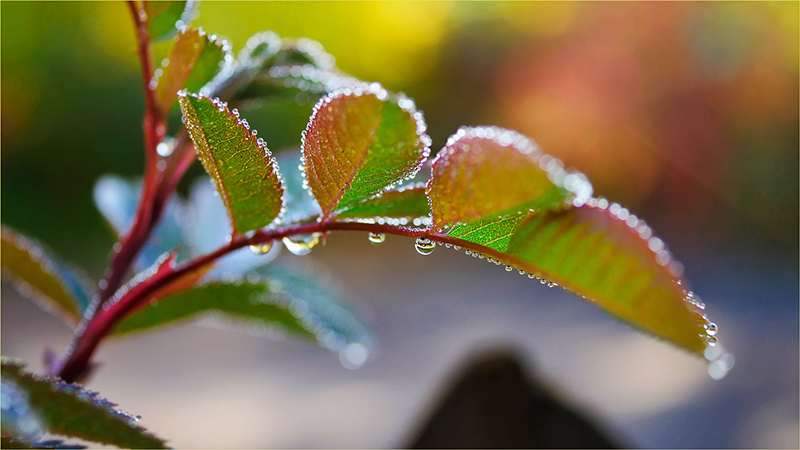
<path fill-rule="evenodd" d="M 64 267 L 38 243 L 5 226 L 2 255 L 3 274 L 22 294 L 69 322 L 80 320 L 94 295 L 84 275 Z"/>

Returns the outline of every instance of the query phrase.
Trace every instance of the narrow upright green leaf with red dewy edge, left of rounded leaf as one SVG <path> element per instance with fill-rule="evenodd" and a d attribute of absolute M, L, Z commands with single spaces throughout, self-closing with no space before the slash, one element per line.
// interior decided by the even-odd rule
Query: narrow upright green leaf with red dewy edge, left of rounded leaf
<path fill-rule="evenodd" d="M 214 181 L 234 233 L 272 223 L 281 212 L 284 188 L 266 143 L 219 100 L 182 93 L 180 104 L 197 157 Z"/>

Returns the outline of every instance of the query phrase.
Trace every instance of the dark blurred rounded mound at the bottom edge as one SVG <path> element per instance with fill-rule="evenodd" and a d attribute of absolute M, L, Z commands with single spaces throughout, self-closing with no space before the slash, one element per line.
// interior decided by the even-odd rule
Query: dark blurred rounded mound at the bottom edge
<path fill-rule="evenodd" d="M 410 448 L 618 448 L 516 352 L 481 354 L 458 374 Z"/>

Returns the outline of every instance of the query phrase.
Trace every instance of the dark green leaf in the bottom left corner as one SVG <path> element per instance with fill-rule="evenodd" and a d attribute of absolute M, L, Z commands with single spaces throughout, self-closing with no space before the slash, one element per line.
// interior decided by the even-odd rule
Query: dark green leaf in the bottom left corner
<path fill-rule="evenodd" d="M 164 441 L 136 425 L 137 419 L 80 385 L 26 373 L 3 358 L 3 383 L 24 392 L 30 408 L 47 431 L 121 448 L 166 448 Z"/>

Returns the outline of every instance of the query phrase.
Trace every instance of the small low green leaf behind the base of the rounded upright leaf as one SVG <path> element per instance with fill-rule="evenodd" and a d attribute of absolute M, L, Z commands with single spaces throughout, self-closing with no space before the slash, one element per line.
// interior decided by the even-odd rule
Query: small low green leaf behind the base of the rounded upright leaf
<path fill-rule="evenodd" d="M 430 214 L 425 185 L 393 189 L 380 196 L 364 200 L 336 215 L 340 219 L 369 219 L 372 217 L 417 218 Z"/>

